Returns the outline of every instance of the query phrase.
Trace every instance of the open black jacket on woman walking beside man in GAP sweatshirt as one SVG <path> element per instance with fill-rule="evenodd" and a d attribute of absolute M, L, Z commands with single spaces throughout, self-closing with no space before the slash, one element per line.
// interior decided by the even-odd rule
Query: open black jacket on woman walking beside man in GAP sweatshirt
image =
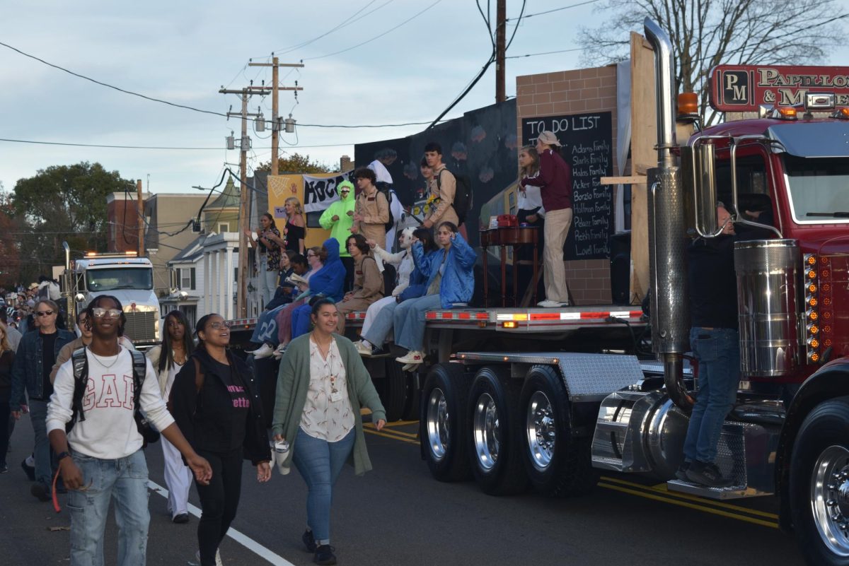
<path fill-rule="evenodd" d="M 245 441 L 242 444 L 245 459 L 254 465 L 271 461 L 268 435 L 262 419 L 262 403 L 259 386 L 247 363 L 231 352 L 227 357 L 234 371 L 239 372 L 250 397 L 250 413 L 245 426 Z M 204 384 L 197 391 L 194 381 L 194 360 L 200 362 Z M 171 414 L 188 443 L 195 450 L 229 452 L 231 427 L 233 426 L 233 402 L 230 392 L 216 365 L 204 347 L 195 350 L 174 379 L 169 401 Z"/>

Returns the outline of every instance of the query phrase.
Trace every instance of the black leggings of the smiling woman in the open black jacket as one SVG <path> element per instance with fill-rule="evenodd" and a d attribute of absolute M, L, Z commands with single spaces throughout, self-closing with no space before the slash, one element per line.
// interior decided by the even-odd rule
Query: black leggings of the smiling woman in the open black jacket
<path fill-rule="evenodd" d="M 239 495 L 242 491 L 242 449 L 226 454 L 197 451 L 209 460 L 212 467 L 212 479 L 209 486 L 201 486 L 197 481 L 200 497 L 200 522 L 198 523 L 198 547 L 201 566 L 215 566 L 215 553 L 218 545 L 227 534 L 230 524 L 236 518 L 239 508 Z"/>

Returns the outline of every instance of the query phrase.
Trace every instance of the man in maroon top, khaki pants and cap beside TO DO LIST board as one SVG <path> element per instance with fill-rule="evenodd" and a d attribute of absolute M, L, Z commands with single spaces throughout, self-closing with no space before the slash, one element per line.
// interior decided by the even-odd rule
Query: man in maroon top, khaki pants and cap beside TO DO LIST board
<path fill-rule="evenodd" d="M 557 136 L 548 130 L 537 137 L 539 171 L 525 177 L 520 185 L 540 187 L 545 208 L 543 240 L 543 280 L 545 300 L 539 307 L 557 308 L 569 305 L 566 268 L 563 264 L 563 245 L 572 224 L 572 169 L 558 153 L 561 146 Z"/>

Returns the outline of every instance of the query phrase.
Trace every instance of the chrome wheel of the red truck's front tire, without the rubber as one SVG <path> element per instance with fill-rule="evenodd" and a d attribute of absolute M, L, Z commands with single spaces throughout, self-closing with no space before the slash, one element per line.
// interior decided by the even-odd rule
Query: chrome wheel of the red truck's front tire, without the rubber
<path fill-rule="evenodd" d="M 826 448 L 811 474 L 814 524 L 830 552 L 849 557 L 849 450 Z"/>

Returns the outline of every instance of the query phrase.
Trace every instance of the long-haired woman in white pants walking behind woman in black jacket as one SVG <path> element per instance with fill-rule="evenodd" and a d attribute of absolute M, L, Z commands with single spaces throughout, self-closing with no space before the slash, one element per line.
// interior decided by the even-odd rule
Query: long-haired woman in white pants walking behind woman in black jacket
<path fill-rule="evenodd" d="M 146 355 L 157 372 L 160 394 L 167 401 L 177 373 L 194 352 L 194 340 L 191 325 L 181 310 L 172 310 L 165 315 L 165 330 L 161 345 L 150 348 Z M 162 457 L 171 521 L 188 523 L 188 490 L 192 486 L 192 471 L 183 463 L 177 447 L 165 438 L 162 439 Z"/>

